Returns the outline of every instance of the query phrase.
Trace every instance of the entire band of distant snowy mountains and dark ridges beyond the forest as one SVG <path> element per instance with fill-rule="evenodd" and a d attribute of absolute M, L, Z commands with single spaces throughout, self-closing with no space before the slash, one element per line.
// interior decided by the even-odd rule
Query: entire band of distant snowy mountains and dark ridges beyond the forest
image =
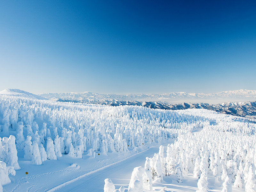
<path fill-rule="evenodd" d="M 52 101 L 61 102 L 84 102 L 92 104 L 101 104 L 109 106 L 121 106 L 121 105 L 138 105 L 148 108 L 155 109 L 166 109 L 166 110 L 179 110 L 189 108 L 205 108 L 214 110 L 224 114 L 230 114 L 235 116 L 243 116 L 248 118 L 256 118 L 256 90 L 236 90 L 236 91 L 225 91 L 220 93 L 186 93 L 176 92 L 169 94 L 129 94 L 129 95 L 116 95 L 116 94 L 98 94 L 93 92 L 82 92 L 82 93 L 41 93 L 35 95 L 29 92 L 25 92 L 19 89 L 5 89 L 0 94 L 13 95 L 19 97 L 28 97 L 32 99 L 49 99 Z M 254 101 L 248 102 L 223 102 L 217 105 L 208 103 L 190 103 L 183 102 L 177 104 L 170 104 L 164 100 L 172 99 L 226 99 L 231 98 L 237 99 L 252 99 Z M 142 100 L 142 101 L 138 101 Z M 144 100 L 144 101 L 143 101 Z M 145 100 L 156 100 L 156 101 L 145 101 Z"/>

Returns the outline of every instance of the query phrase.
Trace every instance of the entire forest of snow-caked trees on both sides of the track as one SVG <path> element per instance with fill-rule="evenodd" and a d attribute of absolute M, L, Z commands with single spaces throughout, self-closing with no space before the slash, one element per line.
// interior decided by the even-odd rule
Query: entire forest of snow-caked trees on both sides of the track
<path fill-rule="evenodd" d="M 207 175 L 223 190 L 232 185 L 255 191 L 256 124 L 243 117 L 207 109 L 171 111 L 0 95 L 0 128 L 0 191 L 19 191 L 26 182 L 15 178 L 25 171 L 20 164 L 44 167 L 47 161 L 62 159 L 82 159 L 86 164 L 98 156 L 127 157 L 167 143 L 167 152 L 160 147 L 158 154 L 145 157 L 144 168 L 136 168 L 129 186 L 120 191 L 152 191 L 152 184 L 163 177 L 175 176 L 182 182 L 191 174 L 199 179 L 199 191 L 208 189 Z M 111 183 L 106 180 L 108 192 L 115 190 Z"/>

